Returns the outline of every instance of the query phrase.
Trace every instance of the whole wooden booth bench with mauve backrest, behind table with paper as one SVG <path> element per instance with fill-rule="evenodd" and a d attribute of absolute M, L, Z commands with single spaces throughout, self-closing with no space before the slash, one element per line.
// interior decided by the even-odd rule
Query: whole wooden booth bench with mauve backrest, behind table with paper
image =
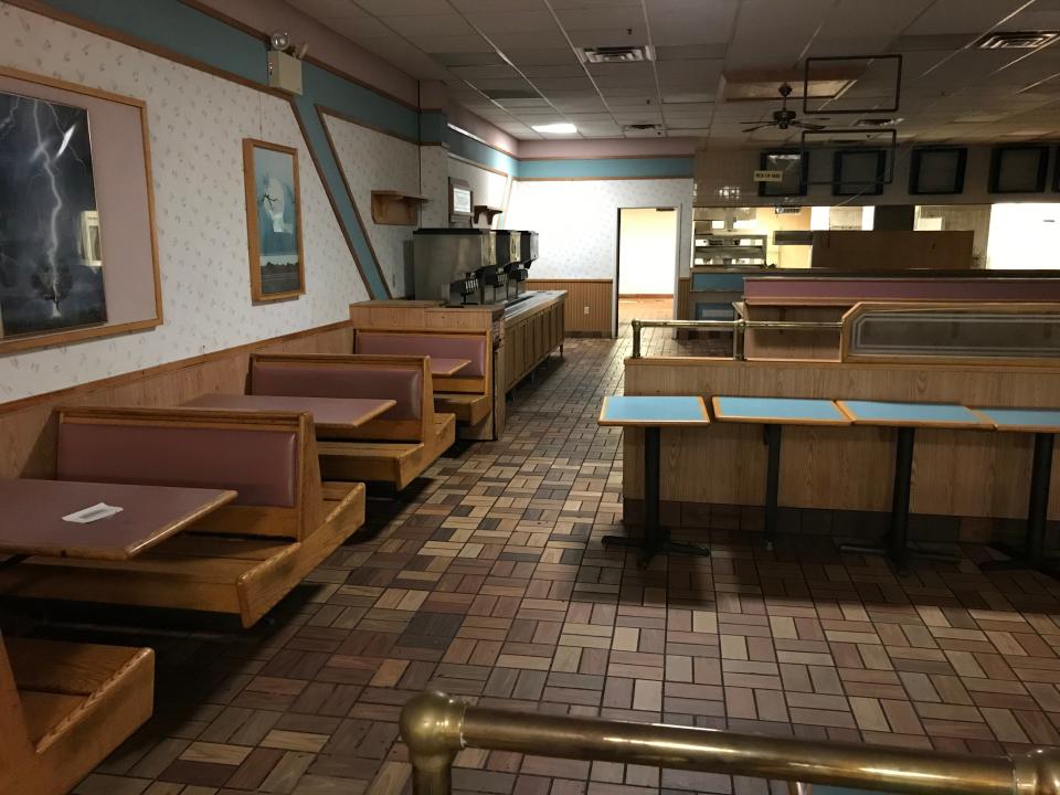
<path fill-rule="evenodd" d="M 0 593 L 229 614 L 250 627 L 364 523 L 363 484 L 325 488 L 309 413 L 57 414 L 60 478 L 230 488 L 239 498 L 130 560 L 31 556 L 0 571 Z"/>

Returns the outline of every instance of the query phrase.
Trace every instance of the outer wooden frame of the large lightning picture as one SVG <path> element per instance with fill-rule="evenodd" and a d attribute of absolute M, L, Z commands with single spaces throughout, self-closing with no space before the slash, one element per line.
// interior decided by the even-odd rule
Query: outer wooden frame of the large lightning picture
<path fill-rule="evenodd" d="M 71 342 L 76 342 L 81 340 L 98 339 L 100 337 L 114 337 L 117 335 L 130 333 L 132 331 L 144 331 L 147 329 L 157 328 L 163 322 L 162 316 L 162 284 L 161 275 L 159 272 L 158 264 L 158 233 L 156 230 L 155 222 L 155 180 L 151 176 L 151 147 L 150 147 L 150 130 L 148 127 L 147 118 L 147 103 L 142 99 L 137 99 L 136 97 L 125 96 L 121 94 L 115 94 L 113 92 L 103 91 L 100 88 L 94 88 L 91 86 L 83 86 L 76 83 L 70 83 L 67 81 L 57 80 L 55 77 L 47 77 L 44 75 L 33 74 L 32 72 L 23 72 L 22 70 L 10 68 L 7 66 L 0 66 L 0 77 L 6 77 L 14 81 L 22 81 L 24 83 L 33 83 L 40 86 L 44 86 L 51 89 L 57 89 L 62 92 L 70 92 L 71 94 L 80 94 L 85 97 L 91 97 L 93 99 L 103 100 L 106 103 L 114 103 L 117 105 L 125 105 L 131 107 L 136 110 L 137 117 L 139 119 L 140 127 L 140 141 L 142 145 L 142 158 L 144 158 L 144 172 L 146 176 L 146 184 L 144 186 L 145 194 L 147 198 L 147 219 L 149 223 L 148 240 L 146 241 L 150 245 L 150 267 L 151 267 L 151 282 L 152 282 L 152 292 L 153 292 L 153 306 L 152 306 L 152 316 L 145 317 L 136 320 L 129 320 L 125 322 L 108 322 L 104 321 L 100 324 L 94 324 L 91 326 L 82 326 L 80 328 L 70 328 L 61 329 L 56 331 L 45 331 L 42 333 L 30 333 L 30 335 L 20 335 L 17 337 L 10 338 L 0 338 L 0 356 L 8 353 L 13 353 L 17 351 L 31 350 L 35 348 L 52 348 L 55 346 L 64 346 Z M 135 152 L 132 152 L 135 157 Z M 98 189 L 98 186 L 97 186 Z M 112 211 L 114 215 L 117 215 L 117 211 Z M 104 209 L 106 214 L 106 209 Z M 108 223 L 114 223 L 114 220 L 108 221 Z M 106 232 L 104 232 L 106 234 Z M 146 265 L 146 264 L 145 264 Z M 113 266 L 112 266 L 113 267 Z M 109 315 L 108 307 L 108 315 Z"/>

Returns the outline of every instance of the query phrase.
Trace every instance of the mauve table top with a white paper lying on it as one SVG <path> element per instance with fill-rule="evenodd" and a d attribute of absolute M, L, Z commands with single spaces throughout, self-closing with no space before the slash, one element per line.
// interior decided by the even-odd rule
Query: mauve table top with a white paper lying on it
<path fill-rule="evenodd" d="M 129 560 L 235 497 L 227 489 L 0 480 L 0 553 Z M 97 502 L 123 510 L 85 524 L 63 521 Z"/>

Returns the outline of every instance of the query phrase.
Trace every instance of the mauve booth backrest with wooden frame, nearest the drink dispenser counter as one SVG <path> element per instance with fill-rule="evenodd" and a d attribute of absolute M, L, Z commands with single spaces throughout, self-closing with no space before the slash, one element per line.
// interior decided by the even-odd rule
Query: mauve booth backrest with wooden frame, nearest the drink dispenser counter
<path fill-rule="evenodd" d="M 436 378 L 439 392 L 488 394 L 492 382 L 489 331 L 374 331 L 357 329 L 354 353 L 430 356 L 438 359 L 467 359 L 456 375 Z"/>

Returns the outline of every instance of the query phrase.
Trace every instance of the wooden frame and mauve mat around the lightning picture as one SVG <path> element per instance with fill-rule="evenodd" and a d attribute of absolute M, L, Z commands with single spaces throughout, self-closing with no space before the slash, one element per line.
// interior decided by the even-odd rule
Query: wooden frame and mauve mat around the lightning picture
<path fill-rule="evenodd" d="M 91 234 L 87 229 L 82 230 L 81 244 L 91 243 L 92 253 L 85 256 L 88 265 L 102 268 L 106 300 L 106 318 L 99 322 L 8 337 L 0 330 L 0 356 L 161 326 L 162 288 L 147 104 L 136 97 L 3 66 L 0 92 L 88 113 L 97 209 L 83 213 L 83 221 L 91 216 L 94 230 Z M 12 252 L 4 254 L 10 257 Z"/>

